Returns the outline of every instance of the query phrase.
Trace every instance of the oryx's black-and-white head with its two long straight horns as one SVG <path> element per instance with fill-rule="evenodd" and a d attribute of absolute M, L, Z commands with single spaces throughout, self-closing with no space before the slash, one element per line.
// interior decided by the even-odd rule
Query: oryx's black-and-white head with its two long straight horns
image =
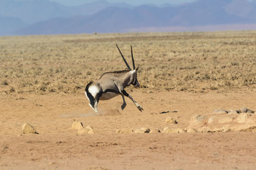
<path fill-rule="evenodd" d="M 124 60 L 126 66 L 127 66 L 127 69 L 130 70 L 129 72 L 131 73 L 131 77 L 130 77 L 130 82 L 129 83 L 134 85 L 134 87 L 139 87 L 140 83 L 138 82 L 138 79 L 137 79 L 137 71 L 138 71 L 139 67 L 135 67 L 135 64 L 134 64 L 134 58 L 133 58 L 133 53 L 132 53 L 132 45 L 131 45 L 132 69 L 129 66 L 129 64 L 127 63 L 127 61 L 125 60 L 124 55 L 122 54 L 118 45 L 116 45 L 116 47 L 118 48 L 118 51 L 120 52 L 120 54 L 122 56 L 122 59 Z"/>

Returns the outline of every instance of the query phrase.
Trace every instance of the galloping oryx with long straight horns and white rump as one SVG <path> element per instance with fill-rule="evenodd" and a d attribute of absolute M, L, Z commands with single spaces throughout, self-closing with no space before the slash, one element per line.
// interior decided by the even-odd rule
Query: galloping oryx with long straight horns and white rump
<path fill-rule="evenodd" d="M 118 48 L 118 46 L 116 45 Z M 137 80 L 137 71 L 138 67 L 135 68 L 133 54 L 132 54 L 132 46 L 131 46 L 131 57 L 132 57 L 132 66 L 133 69 L 129 66 L 127 61 L 124 58 L 124 55 L 122 54 L 121 50 L 118 48 L 118 51 L 120 52 L 122 59 L 124 60 L 127 69 L 122 71 L 113 71 L 113 72 L 107 72 L 102 74 L 100 76 L 99 80 L 97 81 L 91 81 L 86 85 L 85 88 L 85 95 L 90 101 L 89 105 L 91 108 L 96 112 L 98 115 L 98 109 L 97 104 L 99 103 L 99 100 L 108 100 L 115 96 L 121 95 L 123 99 L 123 104 L 121 106 L 122 110 L 124 110 L 126 103 L 124 96 L 129 97 L 129 99 L 132 100 L 132 102 L 135 104 L 135 106 L 138 108 L 138 110 L 142 111 L 143 108 L 132 99 L 132 96 L 127 94 L 125 92 L 125 87 L 129 85 L 134 85 L 134 87 L 139 87 L 140 83 Z"/>

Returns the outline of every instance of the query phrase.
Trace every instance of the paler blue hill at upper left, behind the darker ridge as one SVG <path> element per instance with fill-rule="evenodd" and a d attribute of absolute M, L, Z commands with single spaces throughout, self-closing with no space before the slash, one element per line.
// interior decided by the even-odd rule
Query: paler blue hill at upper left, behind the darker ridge
<path fill-rule="evenodd" d="M 106 0 L 98 0 L 81 6 L 65 6 L 48 0 L 1 0 L 0 16 L 2 17 L 1 21 L 4 20 L 4 22 L 0 23 L 0 36 L 6 34 L 6 31 L 3 31 L 5 27 L 8 27 L 8 32 L 13 32 L 26 25 L 33 25 L 52 18 L 92 15 L 110 6 L 132 7 L 125 3 L 108 3 Z M 10 18 L 10 23 L 12 22 L 8 26 L 3 24 L 7 23 L 7 18 Z M 14 18 L 17 20 L 17 24 L 13 24 Z"/>

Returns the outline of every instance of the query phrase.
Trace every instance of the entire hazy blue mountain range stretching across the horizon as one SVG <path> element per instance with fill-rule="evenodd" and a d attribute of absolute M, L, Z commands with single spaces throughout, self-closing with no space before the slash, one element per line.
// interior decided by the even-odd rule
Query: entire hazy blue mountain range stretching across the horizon
<path fill-rule="evenodd" d="M 0 23 L 0 36 L 150 31 L 152 28 L 168 31 L 170 27 L 200 30 L 209 25 L 239 25 L 241 29 L 243 25 L 256 26 L 256 3 L 198 0 L 179 6 L 131 6 L 99 0 L 81 6 L 64 6 L 47 0 L 1 0 Z"/>

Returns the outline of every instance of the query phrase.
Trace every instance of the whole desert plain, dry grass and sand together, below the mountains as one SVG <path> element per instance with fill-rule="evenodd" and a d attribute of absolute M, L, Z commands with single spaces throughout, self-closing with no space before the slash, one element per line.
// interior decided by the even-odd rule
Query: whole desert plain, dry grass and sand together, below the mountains
<path fill-rule="evenodd" d="M 95 115 L 84 87 L 125 69 L 115 43 L 143 111 L 117 96 Z M 256 31 L 3 36 L 0 62 L 0 169 L 256 167 Z"/>

